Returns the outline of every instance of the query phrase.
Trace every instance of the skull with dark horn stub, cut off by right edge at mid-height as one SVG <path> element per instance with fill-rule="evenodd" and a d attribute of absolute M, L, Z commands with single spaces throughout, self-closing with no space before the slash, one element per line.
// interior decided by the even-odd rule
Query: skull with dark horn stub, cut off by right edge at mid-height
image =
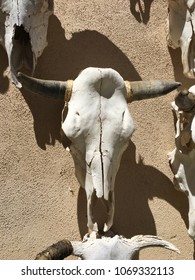
<path fill-rule="evenodd" d="M 188 233 L 195 240 L 195 87 L 180 92 L 172 103 L 177 116 L 176 148 L 168 154 L 176 189 L 189 201 Z"/>

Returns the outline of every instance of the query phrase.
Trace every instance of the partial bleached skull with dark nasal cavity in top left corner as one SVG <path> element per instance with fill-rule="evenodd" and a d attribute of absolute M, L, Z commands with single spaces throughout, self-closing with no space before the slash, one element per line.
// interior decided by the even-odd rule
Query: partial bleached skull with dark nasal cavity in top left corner
<path fill-rule="evenodd" d="M 22 68 L 33 73 L 47 46 L 53 0 L 0 0 L 0 44 L 8 56 L 11 81 L 21 87 L 16 74 Z"/>

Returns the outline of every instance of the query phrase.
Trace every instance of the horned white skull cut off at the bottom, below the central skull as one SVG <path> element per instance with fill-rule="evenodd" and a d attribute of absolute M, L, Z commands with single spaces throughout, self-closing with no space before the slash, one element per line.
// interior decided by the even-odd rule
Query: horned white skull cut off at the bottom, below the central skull
<path fill-rule="evenodd" d="M 180 253 L 172 243 L 152 235 L 136 235 L 131 239 L 120 235 L 112 238 L 89 236 L 83 241 L 61 240 L 37 254 L 36 260 L 64 259 L 70 255 L 83 260 L 132 260 L 140 249 L 151 246 L 160 246 Z"/>

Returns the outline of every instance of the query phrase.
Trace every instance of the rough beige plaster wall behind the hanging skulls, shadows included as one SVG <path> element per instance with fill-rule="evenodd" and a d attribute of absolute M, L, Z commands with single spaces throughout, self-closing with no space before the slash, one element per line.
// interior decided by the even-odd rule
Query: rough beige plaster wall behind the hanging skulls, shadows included
<path fill-rule="evenodd" d="M 98 66 L 112 67 L 124 79 L 174 79 L 189 86 L 180 51 L 167 48 L 166 17 L 166 0 L 55 1 L 35 76 L 74 79 L 83 68 Z M 0 58 L 0 259 L 33 259 L 64 237 L 83 237 L 86 198 L 60 140 L 63 103 L 16 89 L 3 75 L 3 48 Z M 113 230 L 127 238 L 158 235 L 181 251 L 144 249 L 139 259 L 194 258 L 187 198 L 174 189 L 167 160 L 174 148 L 175 94 L 129 106 L 136 131 L 116 179 Z"/>

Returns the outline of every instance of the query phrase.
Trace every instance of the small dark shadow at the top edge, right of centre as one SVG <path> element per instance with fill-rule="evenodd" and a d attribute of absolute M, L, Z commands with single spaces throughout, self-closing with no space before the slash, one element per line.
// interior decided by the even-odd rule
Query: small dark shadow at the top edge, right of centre
<path fill-rule="evenodd" d="M 152 2 L 153 0 L 130 0 L 130 11 L 138 22 L 148 23 Z"/>

